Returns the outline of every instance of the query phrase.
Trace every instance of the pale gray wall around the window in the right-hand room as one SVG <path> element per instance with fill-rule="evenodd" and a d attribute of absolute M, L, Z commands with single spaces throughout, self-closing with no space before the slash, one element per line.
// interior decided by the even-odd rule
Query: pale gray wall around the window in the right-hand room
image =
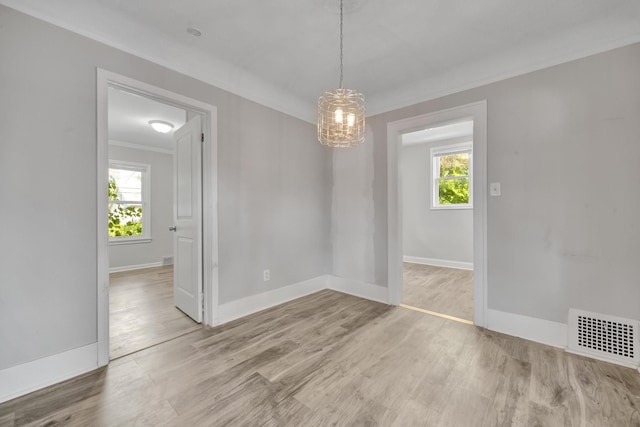
<path fill-rule="evenodd" d="M 460 142 L 460 141 L 457 141 Z M 431 209 L 431 153 L 450 141 L 403 145 L 403 255 L 473 263 L 473 210 Z"/>

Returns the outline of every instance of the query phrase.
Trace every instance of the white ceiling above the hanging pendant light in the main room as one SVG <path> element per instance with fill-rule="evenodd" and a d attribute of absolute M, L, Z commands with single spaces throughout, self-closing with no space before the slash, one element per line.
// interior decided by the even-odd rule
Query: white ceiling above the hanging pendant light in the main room
<path fill-rule="evenodd" d="M 640 41 L 639 0 L 345 2 L 368 115 Z M 0 3 L 309 122 L 338 84 L 338 0 Z"/>

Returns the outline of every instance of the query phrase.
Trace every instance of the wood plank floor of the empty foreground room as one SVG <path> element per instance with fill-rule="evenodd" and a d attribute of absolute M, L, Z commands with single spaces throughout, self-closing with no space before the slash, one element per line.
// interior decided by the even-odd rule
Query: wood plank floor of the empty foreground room
<path fill-rule="evenodd" d="M 640 426 L 640 374 L 321 291 L 0 405 L 4 426 Z"/>

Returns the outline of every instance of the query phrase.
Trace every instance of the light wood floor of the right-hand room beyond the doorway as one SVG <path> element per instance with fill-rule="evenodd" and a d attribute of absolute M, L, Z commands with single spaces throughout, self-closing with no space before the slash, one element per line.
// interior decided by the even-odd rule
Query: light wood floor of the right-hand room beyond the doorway
<path fill-rule="evenodd" d="M 402 303 L 473 320 L 473 271 L 403 263 Z"/>

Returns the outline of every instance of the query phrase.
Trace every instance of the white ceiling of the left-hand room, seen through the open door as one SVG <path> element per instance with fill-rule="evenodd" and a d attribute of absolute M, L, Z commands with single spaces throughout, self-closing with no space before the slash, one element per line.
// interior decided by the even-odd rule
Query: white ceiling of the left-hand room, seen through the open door
<path fill-rule="evenodd" d="M 145 145 L 173 151 L 173 131 L 185 124 L 187 112 L 124 90 L 109 88 L 109 141 Z M 168 133 L 158 133 L 150 120 L 173 124 Z"/>

